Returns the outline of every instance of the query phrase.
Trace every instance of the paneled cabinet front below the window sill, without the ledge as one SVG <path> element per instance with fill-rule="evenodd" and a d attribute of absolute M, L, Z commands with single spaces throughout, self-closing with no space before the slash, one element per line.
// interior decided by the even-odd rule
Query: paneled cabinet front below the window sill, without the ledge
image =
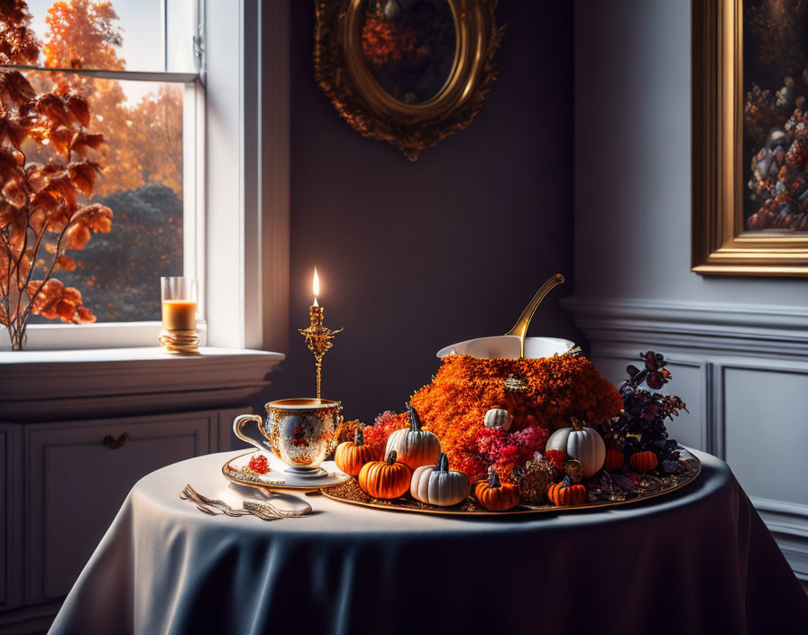
<path fill-rule="evenodd" d="M 230 449 L 249 411 L 0 423 L 0 632 L 47 630 L 133 484 Z"/>

